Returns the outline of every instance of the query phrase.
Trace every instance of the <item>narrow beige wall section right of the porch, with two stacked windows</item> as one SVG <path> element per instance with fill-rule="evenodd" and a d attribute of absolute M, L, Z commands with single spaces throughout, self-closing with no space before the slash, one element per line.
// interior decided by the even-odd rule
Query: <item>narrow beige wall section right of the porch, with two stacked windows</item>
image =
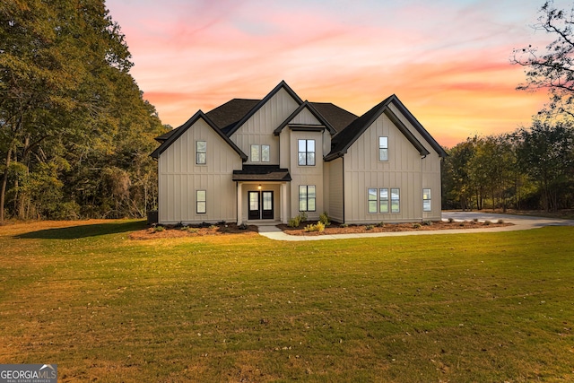
<path fill-rule="evenodd" d="M 323 168 L 325 161 L 323 157 L 323 133 L 322 132 L 301 132 L 291 131 L 288 128 L 283 129 L 286 135 L 289 135 L 289 143 L 291 147 L 290 165 L 289 170 L 291 174 L 291 212 L 288 218 L 292 218 L 299 214 L 299 187 L 300 185 L 314 185 L 316 187 L 316 209 L 315 212 L 306 212 L 309 221 L 319 219 L 319 215 L 325 211 L 324 198 L 325 195 L 323 187 Z M 282 134 L 283 134 L 282 132 Z M 300 166 L 298 161 L 298 140 L 315 140 L 315 166 Z"/>

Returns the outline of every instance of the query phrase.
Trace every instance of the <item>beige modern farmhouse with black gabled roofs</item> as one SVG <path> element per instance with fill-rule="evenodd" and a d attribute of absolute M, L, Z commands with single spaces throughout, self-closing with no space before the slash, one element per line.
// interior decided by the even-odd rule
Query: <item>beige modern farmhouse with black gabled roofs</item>
<path fill-rule="evenodd" d="M 446 153 L 395 95 L 357 117 L 282 82 L 157 140 L 160 223 L 440 219 Z"/>

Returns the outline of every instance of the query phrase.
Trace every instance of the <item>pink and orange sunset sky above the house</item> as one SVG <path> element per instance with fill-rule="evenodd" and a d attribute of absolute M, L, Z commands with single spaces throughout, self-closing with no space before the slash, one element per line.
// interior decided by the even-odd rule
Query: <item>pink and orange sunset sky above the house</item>
<path fill-rule="evenodd" d="M 547 100 L 516 91 L 513 48 L 544 48 L 534 0 L 108 0 L 132 74 L 161 121 L 183 124 L 285 80 L 361 115 L 395 93 L 444 146 L 528 126 Z M 567 7 L 566 1 L 555 1 Z"/>

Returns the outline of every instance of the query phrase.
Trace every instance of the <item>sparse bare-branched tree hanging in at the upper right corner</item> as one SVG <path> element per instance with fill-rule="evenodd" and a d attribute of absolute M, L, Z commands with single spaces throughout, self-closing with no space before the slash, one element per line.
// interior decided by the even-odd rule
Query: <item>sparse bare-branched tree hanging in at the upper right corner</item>
<path fill-rule="evenodd" d="M 540 13 L 535 30 L 544 30 L 554 40 L 542 51 L 532 45 L 514 49 L 510 62 L 526 67 L 526 83 L 517 89 L 546 89 L 551 100 L 541 113 L 574 117 L 574 9 L 557 9 L 547 1 Z"/>

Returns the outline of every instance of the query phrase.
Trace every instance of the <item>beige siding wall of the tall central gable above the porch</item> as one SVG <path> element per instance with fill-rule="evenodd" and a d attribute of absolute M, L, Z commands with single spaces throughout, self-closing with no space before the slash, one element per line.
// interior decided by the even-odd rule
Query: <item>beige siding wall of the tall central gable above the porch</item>
<path fill-rule="evenodd" d="M 297 108 L 299 108 L 297 101 L 287 91 L 281 89 L 230 136 L 231 141 L 248 155 L 246 164 L 279 164 L 279 140 L 273 132 Z M 270 161 L 251 162 L 251 144 L 269 145 Z"/>

